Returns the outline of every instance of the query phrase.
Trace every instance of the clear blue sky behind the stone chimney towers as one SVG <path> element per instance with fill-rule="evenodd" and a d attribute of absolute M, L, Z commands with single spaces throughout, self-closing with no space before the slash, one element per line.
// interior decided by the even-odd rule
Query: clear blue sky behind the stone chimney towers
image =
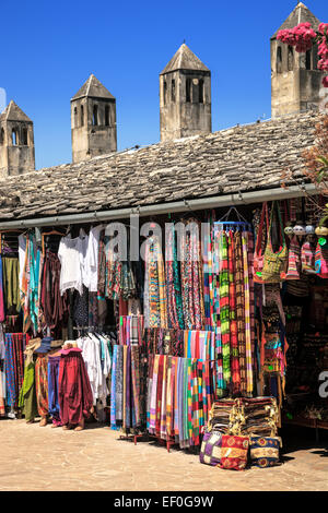
<path fill-rule="evenodd" d="M 36 168 L 71 162 L 70 98 L 91 73 L 116 97 L 118 150 L 159 142 L 159 73 L 184 39 L 212 72 L 213 131 L 270 118 L 269 39 L 296 3 L 2 2 L 0 87 L 34 121 Z M 327 0 L 304 3 L 328 21 Z"/>

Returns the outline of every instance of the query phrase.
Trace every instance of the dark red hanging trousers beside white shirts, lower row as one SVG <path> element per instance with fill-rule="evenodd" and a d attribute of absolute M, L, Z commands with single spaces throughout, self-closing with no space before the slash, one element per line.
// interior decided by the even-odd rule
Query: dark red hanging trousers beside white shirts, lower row
<path fill-rule="evenodd" d="M 58 402 L 63 426 L 77 425 L 90 416 L 92 390 L 79 348 L 62 349 L 58 374 Z"/>

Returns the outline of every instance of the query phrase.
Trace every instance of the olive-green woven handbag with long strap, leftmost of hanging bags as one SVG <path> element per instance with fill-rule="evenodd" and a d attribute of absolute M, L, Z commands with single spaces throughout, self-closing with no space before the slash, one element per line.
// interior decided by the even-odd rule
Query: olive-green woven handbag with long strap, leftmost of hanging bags
<path fill-rule="evenodd" d="M 282 238 L 282 246 L 279 251 L 274 252 L 272 248 L 272 222 L 274 215 L 274 208 L 277 207 L 279 226 Z M 273 201 L 270 226 L 268 234 L 268 241 L 265 251 L 263 269 L 262 269 L 262 283 L 279 283 L 285 279 L 285 271 L 288 265 L 288 247 L 284 238 L 284 230 L 281 220 L 281 214 L 278 202 Z"/>

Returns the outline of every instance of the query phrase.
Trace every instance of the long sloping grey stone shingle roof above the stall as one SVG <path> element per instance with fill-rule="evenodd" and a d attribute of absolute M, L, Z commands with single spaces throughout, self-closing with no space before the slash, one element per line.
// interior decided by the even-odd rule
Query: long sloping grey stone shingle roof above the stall
<path fill-rule="evenodd" d="M 9 177 L 0 220 L 261 191 L 285 170 L 301 180 L 318 119 L 309 111 Z"/>

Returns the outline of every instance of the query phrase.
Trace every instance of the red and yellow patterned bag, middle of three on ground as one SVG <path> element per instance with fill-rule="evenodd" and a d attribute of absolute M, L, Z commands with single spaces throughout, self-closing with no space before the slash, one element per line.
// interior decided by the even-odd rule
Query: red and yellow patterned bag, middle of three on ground
<path fill-rule="evenodd" d="M 244 470 L 247 465 L 248 437 L 223 434 L 221 448 L 221 468 Z"/>

